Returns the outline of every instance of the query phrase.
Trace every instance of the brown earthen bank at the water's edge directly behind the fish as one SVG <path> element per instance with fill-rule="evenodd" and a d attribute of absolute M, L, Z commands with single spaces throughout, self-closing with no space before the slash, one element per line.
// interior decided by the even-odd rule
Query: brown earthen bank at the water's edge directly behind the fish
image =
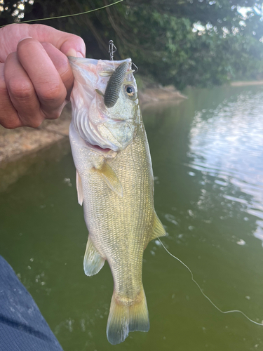
<path fill-rule="evenodd" d="M 152 88 L 139 93 L 140 108 L 187 97 L 175 88 Z M 69 152 L 69 124 L 72 120 L 70 103 L 58 119 L 45 120 L 39 128 L 6 129 L 0 126 L 0 192 L 7 190 L 41 159 L 41 163 L 56 155 L 60 159 Z"/>

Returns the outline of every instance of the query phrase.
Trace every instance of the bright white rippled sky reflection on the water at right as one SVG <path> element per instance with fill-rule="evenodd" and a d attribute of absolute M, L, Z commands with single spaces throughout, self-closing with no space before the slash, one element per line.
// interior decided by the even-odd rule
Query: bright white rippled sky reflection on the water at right
<path fill-rule="evenodd" d="M 243 92 L 196 111 L 189 136 L 189 167 L 201 171 L 203 182 L 213 177 L 224 199 L 243 204 L 244 220 L 245 213 L 258 218 L 254 235 L 263 244 L 263 92 Z"/>

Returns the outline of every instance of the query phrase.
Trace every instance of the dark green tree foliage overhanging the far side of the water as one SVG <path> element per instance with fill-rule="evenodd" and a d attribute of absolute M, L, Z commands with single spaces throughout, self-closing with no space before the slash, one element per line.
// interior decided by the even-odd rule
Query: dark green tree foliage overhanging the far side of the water
<path fill-rule="evenodd" d="M 36 0 L 34 6 L 26 7 L 25 19 L 83 12 L 106 4 L 106 0 L 59 0 L 55 4 Z M 254 5 L 252 0 L 125 0 L 88 15 L 43 23 L 81 35 L 87 57 L 109 58 L 107 43 L 113 39 L 118 48 L 115 58 L 133 58 L 141 77 L 177 88 L 209 86 L 263 77 L 260 16 L 252 8 L 247 8 L 247 18 L 237 11 L 238 6 Z M 262 11 L 258 4 L 256 7 Z M 1 18 L 13 20 L 10 13 L 9 18 L 2 14 L 0 25 Z M 193 32 L 197 22 L 208 24 L 207 29 Z"/>

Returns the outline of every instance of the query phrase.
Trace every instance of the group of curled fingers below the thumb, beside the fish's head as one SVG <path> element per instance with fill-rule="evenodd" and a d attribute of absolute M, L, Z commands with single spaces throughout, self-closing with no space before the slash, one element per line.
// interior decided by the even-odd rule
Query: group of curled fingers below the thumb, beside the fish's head
<path fill-rule="evenodd" d="M 5 64 L 0 65 L 3 126 L 38 127 L 43 119 L 60 116 L 74 80 L 63 53 L 52 44 L 25 39 L 18 44 L 17 53 L 8 55 Z"/>

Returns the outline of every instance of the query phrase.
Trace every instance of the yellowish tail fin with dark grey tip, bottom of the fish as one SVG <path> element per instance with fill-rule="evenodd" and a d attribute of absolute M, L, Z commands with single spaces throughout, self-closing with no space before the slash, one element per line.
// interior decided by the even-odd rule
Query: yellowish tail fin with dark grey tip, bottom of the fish
<path fill-rule="evenodd" d="M 149 331 L 149 315 L 147 302 L 142 289 L 140 296 L 132 303 L 123 303 L 112 296 L 111 308 L 107 324 L 107 338 L 109 343 L 122 343 L 129 331 Z"/>

